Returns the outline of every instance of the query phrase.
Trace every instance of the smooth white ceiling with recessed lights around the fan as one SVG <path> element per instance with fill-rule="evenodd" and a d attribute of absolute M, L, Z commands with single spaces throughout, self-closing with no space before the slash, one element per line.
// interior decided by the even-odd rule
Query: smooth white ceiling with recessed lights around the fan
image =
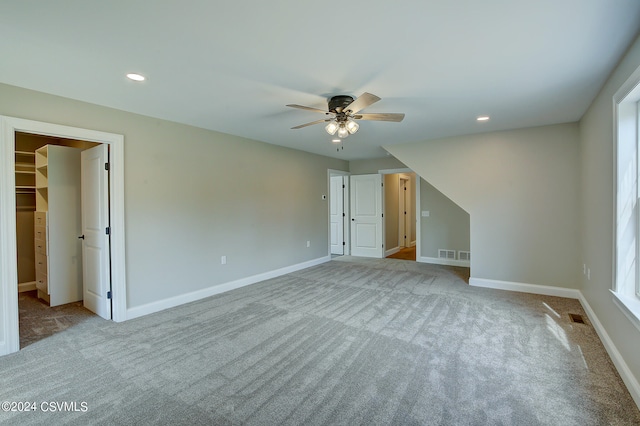
<path fill-rule="evenodd" d="M 577 121 L 639 29 L 638 0 L 3 0 L 0 82 L 352 160 Z M 363 92 L 405 120 L 290 129 Z"/>

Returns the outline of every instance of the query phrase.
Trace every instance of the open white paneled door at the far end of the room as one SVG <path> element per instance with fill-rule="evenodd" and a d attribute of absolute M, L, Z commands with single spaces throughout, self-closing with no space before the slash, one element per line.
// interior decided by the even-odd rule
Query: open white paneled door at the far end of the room
<path fill-rule="evenodd" d="M 382 175 L 351 176 L 351 254 L 384 257 Z"/>

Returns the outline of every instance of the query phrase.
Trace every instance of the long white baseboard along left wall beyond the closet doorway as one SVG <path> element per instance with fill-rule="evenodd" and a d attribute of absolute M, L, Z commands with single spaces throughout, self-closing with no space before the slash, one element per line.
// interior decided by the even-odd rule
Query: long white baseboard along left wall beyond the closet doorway
<path fill-rule="evenodd" d="M 318 259 L 313 259 L 307 262 L 298 263 L 297 265 L 286 266 L 284 268 L 276 269 L 274 271 L 264 272 L 262 274 L 241 278 L 236 281 L 230 281 L 227 283 L 214 285 L 211 287 L 203 288 L 202 290 L 193 291 L 191 293 L 181 294 L 178 296 L 170 297 L 168 299 L 158 300 L 157 302 L 147 303 L 142 306 L 128 308 L 127 320 L 138 318 L 144 315 L 149 315 L 155 312 L 164 311 L 165 309 L 173 308 L 179 305 L 184 305 L 185 303 L 195 302 L 196 300 L 204 299 L 205 297 L 213 296 L 216 294 L 224 293 L 226 291 L 235 290 L 240 287 L 255 284 L 260 281 L 279 277 L 281 275 L 289 274 L 291 272 L 295 272 L 301 269 L 309 268 L 311 266 L 319 265 L 321 263 L 325 263 L 330 260 L 331 260 L 331 256 L 320 257 Z"/>

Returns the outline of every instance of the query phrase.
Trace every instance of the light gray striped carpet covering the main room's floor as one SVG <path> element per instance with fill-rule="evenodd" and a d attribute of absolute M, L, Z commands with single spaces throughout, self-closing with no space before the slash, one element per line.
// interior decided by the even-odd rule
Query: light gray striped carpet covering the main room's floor
<path fill-rule="evenodd" d="M 179 283 L 176 283 L 179 285 Z M 8 424 L 638 425 L 575 300 L 343 256 L 0 358 L 0 400 L 86 402 Z"/>

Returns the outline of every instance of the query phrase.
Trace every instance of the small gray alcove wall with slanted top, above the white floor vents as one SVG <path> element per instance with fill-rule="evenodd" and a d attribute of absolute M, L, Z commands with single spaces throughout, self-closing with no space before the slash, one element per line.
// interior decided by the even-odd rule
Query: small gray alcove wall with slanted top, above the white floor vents
<path fill-rule="evenodd" d="M 469 251 L 469 213 L 438 191 L 424 179 L 420 180 L 421 257 L 438 257 L 438 249 Z"/>

